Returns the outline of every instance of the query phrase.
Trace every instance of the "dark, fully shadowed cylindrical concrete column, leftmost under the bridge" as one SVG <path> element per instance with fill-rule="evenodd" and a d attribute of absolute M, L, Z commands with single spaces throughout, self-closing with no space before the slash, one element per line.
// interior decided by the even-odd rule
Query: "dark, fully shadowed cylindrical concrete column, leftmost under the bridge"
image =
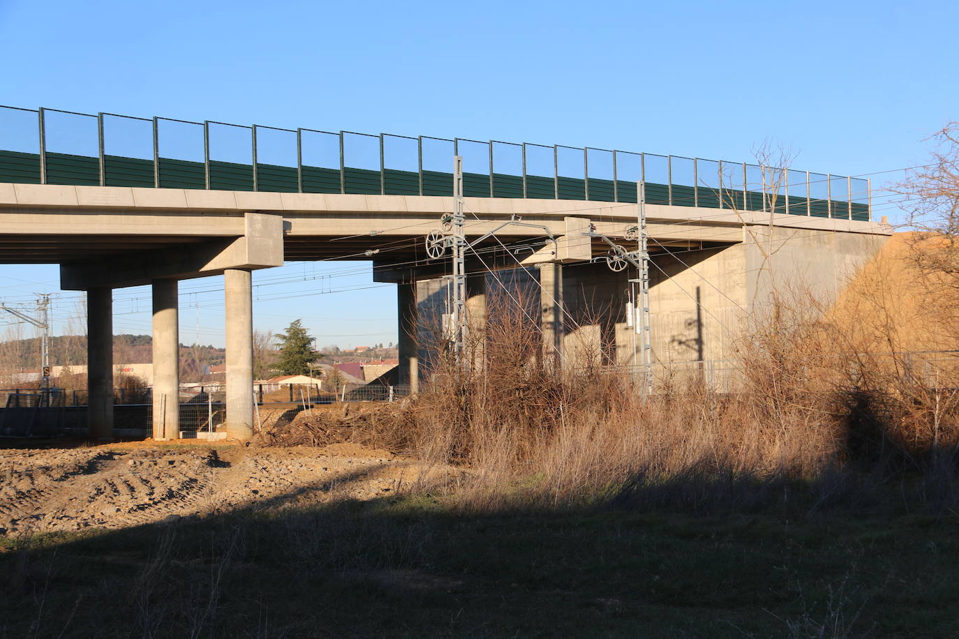
<path fill-rule="evenodd" d="M 90 437 L 113 439 L 113 289 L 86 291 L 86 388 Z"/>

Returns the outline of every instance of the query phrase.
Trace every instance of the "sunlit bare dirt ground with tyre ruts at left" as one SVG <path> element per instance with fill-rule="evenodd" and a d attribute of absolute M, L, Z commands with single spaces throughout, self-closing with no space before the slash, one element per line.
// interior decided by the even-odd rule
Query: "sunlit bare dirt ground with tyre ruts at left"
<path fill-rule="evenodd" d="M 456 473 L 426 471 L 386 450 L 353 444 L 257 448 L 195 442 L 2 449 L 0 535 L 372 499 Z"/>

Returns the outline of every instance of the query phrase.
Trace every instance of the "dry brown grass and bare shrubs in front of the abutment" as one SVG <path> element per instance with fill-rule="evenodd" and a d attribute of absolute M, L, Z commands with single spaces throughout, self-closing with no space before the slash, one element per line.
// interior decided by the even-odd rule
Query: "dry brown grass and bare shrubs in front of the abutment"
<path fill-rule="evenodd" d="M 828 308 L 789 299 L 741 340 L 737 392 L 673 376 L 649 399 L 598 356 L 557 365 L 525 313 L 494 299 L 486 331 L 471 334 L 470 363 L 437 349 L 417 397 L 308 430 L 314 444 L 345 440 L 425 468 L 472 468 L 470 486 L 456 487 L 470 511 L 875 509 L 890 481 L 908 485 L 902 498 L 951 507 L 956 393 L 911 375 L 901 354 L 858 353 Z"/>

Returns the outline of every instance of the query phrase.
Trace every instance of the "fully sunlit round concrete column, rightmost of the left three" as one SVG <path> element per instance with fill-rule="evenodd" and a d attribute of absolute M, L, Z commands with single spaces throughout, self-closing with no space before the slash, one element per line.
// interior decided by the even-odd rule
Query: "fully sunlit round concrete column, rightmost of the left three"
<path fill-rule="evenodd" d="M 253 436 L 253 284 L 245 268 L 223 272 L 226 288 L 226 436 Z"/>

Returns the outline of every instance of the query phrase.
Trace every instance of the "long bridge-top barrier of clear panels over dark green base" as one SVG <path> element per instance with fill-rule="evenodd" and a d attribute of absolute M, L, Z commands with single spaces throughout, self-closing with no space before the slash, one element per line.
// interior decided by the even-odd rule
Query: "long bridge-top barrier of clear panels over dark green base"
<path fill-rule="evenodd" d="M 531 197 L 870 219 L 851 176 L 608 148 L 409 137 L 0 106 L 0 182 Z"/>

